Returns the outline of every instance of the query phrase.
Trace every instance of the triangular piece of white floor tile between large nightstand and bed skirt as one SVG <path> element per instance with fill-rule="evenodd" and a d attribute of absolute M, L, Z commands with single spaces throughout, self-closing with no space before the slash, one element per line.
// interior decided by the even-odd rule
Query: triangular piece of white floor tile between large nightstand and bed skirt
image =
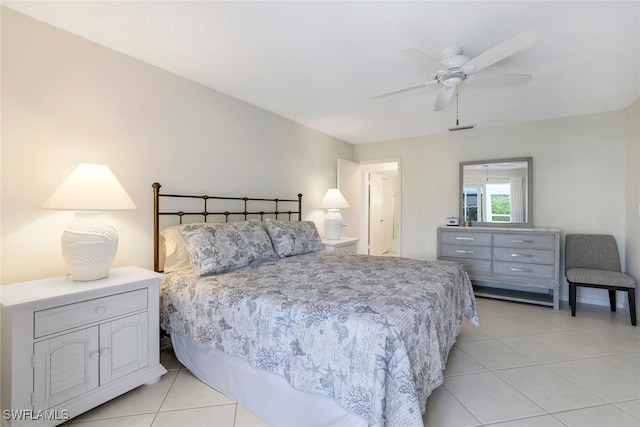
<path fill-rule="evenodd" d="M 178 371 L 160 411 L 198 408 L 234 403 L 224 394 L 209 387 L 187 370 Z"/>

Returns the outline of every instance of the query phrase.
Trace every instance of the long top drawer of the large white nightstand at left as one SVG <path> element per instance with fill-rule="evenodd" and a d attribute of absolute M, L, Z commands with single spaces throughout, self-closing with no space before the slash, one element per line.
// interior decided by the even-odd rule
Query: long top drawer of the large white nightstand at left
<path fill-rule="evenodd" d="M 146 308 L 145 288 L 36 311 L 34 337 L 39 338 Z"/>

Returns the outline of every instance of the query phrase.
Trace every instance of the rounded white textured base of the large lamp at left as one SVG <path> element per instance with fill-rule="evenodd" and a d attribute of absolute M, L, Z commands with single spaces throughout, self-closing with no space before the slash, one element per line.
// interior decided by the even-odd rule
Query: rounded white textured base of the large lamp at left
<path fill-rule="evenodd" d="M 117 250 L 118 232 L 108 224 L 76 219 L 62 233 L 62 257 L 78 282 L 107 277 Z"/>

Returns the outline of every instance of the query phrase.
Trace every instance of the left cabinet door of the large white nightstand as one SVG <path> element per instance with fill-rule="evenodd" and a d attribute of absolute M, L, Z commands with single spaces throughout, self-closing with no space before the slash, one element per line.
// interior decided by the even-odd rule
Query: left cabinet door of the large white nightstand
<path fill-rule="evenodd" d="M 98 387 L 98 327 L 34 344 L 35 410 L 44 410 Z"/>

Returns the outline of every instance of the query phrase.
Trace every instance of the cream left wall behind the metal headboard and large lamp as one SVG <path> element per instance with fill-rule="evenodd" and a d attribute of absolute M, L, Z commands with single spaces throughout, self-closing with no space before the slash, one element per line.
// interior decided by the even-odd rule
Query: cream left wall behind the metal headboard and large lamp
<path fill-rule="evenodd" d="M 220 64 L 224 66 L 224 64 Z M 110 213 L 114 266 L 153 268 L 152 190 L 303 193 L 306 219 L 352 146 L 2 8 L 2 284 L 66 274 L 72 214 L 40 205 L 80 162 L 105 163 L 138 205 Z M 319 219 L 319 221 L 318 221 Z"/>

